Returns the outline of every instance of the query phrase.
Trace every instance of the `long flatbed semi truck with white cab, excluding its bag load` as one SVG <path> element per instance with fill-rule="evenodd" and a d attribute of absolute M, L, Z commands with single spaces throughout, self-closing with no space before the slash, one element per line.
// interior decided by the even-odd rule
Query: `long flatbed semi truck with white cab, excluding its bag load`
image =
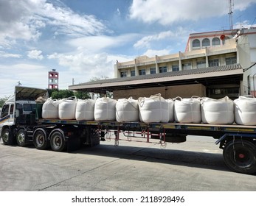
<path fill-rule="evenodd" d="M 4 103 L 0 116 L 0 135 L 4 145 L 26 146 L 55 152 L 72 151 L 80 146 L 96 146 L 109 136 L 118 146 L 120 134 L 131 141 L 143 138 L 161 146 L 182 143 L 187 135 L 211 136 L 223 149 L 224 163 L 232 171 L 256 173 L 256 126 L 238 124 L 182 124 L 117 121 L 77 121 L 42 118 L 38 97 L 47 98 L 47 90 L 16 86 L 15 95 Z M 137 139 L 136 139 L 137 140 Z"/>

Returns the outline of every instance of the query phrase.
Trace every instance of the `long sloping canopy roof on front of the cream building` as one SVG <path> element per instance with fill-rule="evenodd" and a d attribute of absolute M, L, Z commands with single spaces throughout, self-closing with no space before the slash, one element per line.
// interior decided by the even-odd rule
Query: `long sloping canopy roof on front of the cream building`
<path fill-rule="evenodd" d="M 225 84 L 240 85 L 242 79 L 243 68 L 240 64 L 232 64 L 184 71 L 170 71 L 160 74 L 147 74 L 135 77 L 102 79 L 95 82 L 71 85 L 69 89 L 105 93 L 106 91 L 111 92 L 114 90 L 191 85 L 196 83 L 209 87 L 212 85 Z"/>

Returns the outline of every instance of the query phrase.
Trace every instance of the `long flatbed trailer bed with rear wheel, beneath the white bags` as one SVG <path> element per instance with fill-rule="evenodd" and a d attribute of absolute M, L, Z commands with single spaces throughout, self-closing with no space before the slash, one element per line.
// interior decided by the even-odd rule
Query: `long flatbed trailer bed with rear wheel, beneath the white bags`
<path fill-rule="evenodd" d="M 52 125 L 52 127 L 58 129 L 73 126 L 78 131 L 86 130 L 86 132 L 79 133 L 86 134 L 83 143 L 91 145 L 99 143 L 100 140 L 104 140 L 108 135 L 114 135 L 114 145 L 118 146 L 121 132 L 128 138 L 128 141 L 142 138 L 143 141 L 149 143 L 152 139 L 159 139 L 161 146 L 165 146 L 167 142 L 184 142 L 187 135 L 212 136 L 212 138 L 216 139 L 215 143 L 219 144 L 219 148 L 223 149 L 226 166 L 232 171 L 245 174 L 254 174 L 256 172 L 256 126 L 238 124 L 146 124 L 142 122 L 60 119 L 39 119 L 38 124 Z M 70 131 L 66 132 L 66 134 L 71 134 Z M 50 135 L 48 138 L 49 140 L 51 139 Z M 63 135 L 62 138 L 66 138 L 66 142 L 68 142 L 69 136 Z M 57 146 L 52 146 L 54 150 L 57 148 Z"/>

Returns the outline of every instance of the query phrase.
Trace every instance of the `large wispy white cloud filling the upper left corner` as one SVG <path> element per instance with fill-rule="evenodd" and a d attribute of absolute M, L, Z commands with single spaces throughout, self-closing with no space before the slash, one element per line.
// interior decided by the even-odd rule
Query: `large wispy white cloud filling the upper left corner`
<path fill-rule="evenodd" d="M 46 0 L 0 0 L 1 46 L 10 46 L 15 43 L 13 40 L 38 40 L 41 28 L 46 26 L 52 27 L 52 36 L 81 37 L 107 30 L 93 15 L 78 15 L 64 4 L 60 7 L 60 4 L 47 3 Z"/>

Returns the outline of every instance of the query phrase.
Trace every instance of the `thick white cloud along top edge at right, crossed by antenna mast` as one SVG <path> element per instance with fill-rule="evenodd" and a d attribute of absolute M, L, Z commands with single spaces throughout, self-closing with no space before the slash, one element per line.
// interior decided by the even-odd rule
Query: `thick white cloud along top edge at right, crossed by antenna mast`
<path fill-rule="evenodd" d="M 256 0 L 235 1 L 234 10 L 244 10 Z M 162 25 L 177 21 L 196 21 L 201 18 L 226 15 L 228 1 L 212 0 L 134 0 L 130 7 L 130 18 L 145 23 L 158 22 Z"/>

